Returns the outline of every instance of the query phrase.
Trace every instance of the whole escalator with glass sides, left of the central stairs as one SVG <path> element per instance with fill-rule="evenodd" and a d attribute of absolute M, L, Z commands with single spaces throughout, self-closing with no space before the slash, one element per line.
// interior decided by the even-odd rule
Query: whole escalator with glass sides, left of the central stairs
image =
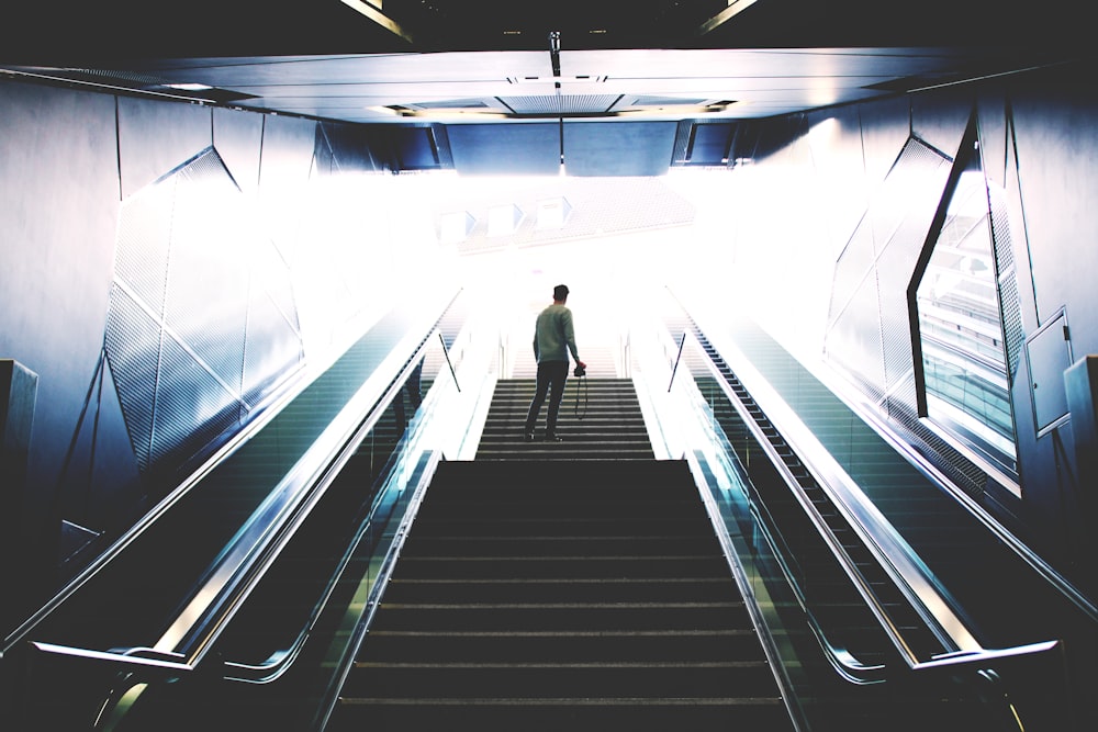
<path fill-rule="evenodd" d="M 434 334 L 452 342 L 460 297 L 448 307 L 434 329 L 421 309 L 382 317 L 5 639 L 5 727 L 209 729 L 231 717 L 220 706 L 229 687 L 267 688 L 258 682 L 283 675 L 303 653 L 303 631 L 333 632 L 321 600 L 346 595 L 333 571 L 352 561 L 346 547 L 406 430 L 385 408 L 400 384 L 386 397 L 378 379 L 402 351 L 422 363 Z M 416 346 L 419 328 L 428 335 Z M 351 435 L 354 453 L 318 453 Z M 238 676 L 249 684 L 221 682 Z M 282 684 L 279 694 L 299 707 L 311 684 Z M 244 714 L 270 700 L 269 691 L 239 696 Z M 259 706 L 247 703 L 253 697 Z"/>

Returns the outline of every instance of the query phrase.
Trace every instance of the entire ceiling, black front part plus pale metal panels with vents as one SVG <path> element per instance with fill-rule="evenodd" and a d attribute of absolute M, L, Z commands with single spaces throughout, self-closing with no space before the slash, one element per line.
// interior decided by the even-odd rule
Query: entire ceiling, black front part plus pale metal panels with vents
<path fill-rule="evenodd" d="M 1030 4 L 34 3 L 29 20 L 0 30 L 0 69 L 352 123 L 760 119 L 1087 53 L 1076 4 L 1047 0 L 1040 13 Z"/>

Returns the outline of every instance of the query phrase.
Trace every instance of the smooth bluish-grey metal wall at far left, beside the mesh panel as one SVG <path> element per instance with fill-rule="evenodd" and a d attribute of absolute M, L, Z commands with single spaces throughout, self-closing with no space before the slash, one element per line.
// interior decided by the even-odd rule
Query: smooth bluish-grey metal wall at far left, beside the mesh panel
<path fill-rule="evenodd" d="M 109 384 L 98 391 L 122 189 L 116 120 L 113 97 L 0 86 L 0 352 L 37 374 L 12 530 L 47 571 L 61 518 L 99 525 L 143 493 L 117 402 Z"/>

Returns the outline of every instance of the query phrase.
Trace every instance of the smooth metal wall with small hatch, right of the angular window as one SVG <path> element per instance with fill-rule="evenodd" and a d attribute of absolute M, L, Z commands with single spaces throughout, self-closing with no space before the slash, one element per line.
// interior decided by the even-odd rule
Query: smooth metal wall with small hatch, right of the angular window
<path fill-rule="evenodd" d="M 1042 328 L 1058 330 L 1050 334 L 1058 341 L 1057 372 L 1098 353 L 1091 203 L 1098 194 L 1098 97 L 1082 70 L 1034 74 L 998 89 L 1001 95 L 995 87 L 981 95 L 978 113 L 984 154 L 994 161 L 985 169 L 1008 192 L 1009 236 L 1022 285 L 1029 358 L 1020 363 L 1012 401 L 1023 498 L 1042 528 L 1063 542 L 1062 561 L 1073 574 L 1094 582 L 1095 476 L 1079 473 L 1076 449 L 1094 452 L 1098 446 L 1076 446 L 1072 424 L 1094 416 L 1069 413 L 1061 373 L 1043 379 L 1033 369 L 1040 365 L 1038 349 L 1044 349 L 1037 345 Z M 1056 398 L 1045 402 L 1040 388 L 1050 386 Z"/>

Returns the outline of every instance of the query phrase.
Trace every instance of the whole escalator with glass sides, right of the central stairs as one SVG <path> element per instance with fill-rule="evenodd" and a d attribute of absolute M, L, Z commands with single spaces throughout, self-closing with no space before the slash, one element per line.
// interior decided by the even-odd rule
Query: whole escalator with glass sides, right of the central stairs
<path fill-rule="evenodd" d="M 1080 691 L 1094 676 L 1093 609 L 989 531 L 758 326 L 729 318 L 736 346 L 722 341 L 736 368 L 750 374 L 749 391 L 693 319 L 672 312 L 668 327 L 683 354 L 677 368 L 693 374 L 737 454 L 760 519 L 754 530 L 765 534 L 760 543 L 782 558 L 795 604 L 839 672 L 821 666 L 817 674 L 827 690 L 811 705 L 816 723 L 879 729 L 909 709 L 900 713 L 916 729 L 1089 729 L 1084 720 L 1093 710 Z M 781 415 L 781 429 L 770 409 Z M 825 466 L 809 469 L 802 457 L 819 459 L 820 449 Z M 776 472 L 792 478 L 788 486 Z M 841 475 L 836 483 L 852 489 L 824 489 L 820 475 Z M 840 551 L 827 551 L 828 543 Z M 839 556 L 853 571 L 836 566 Z M 897 582 L 897 562 L 908 562 L 925 585 Z M 865 590 L 861 599 L 851 579 Z M 950 608 L 944 628 L 938 608 Z M 949 674 L 939 673 L 952 662 Z"/>

